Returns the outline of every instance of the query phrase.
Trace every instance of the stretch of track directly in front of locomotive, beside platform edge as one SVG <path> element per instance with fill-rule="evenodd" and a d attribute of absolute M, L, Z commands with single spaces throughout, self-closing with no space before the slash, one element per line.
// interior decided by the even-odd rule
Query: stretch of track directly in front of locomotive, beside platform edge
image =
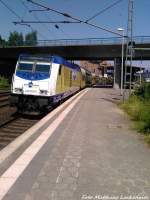
<path fill-rule="evenodd" d="M 15 114 L 12 119 L 0 126 L 0 150 L 33 126 L 39 118 Z"/>

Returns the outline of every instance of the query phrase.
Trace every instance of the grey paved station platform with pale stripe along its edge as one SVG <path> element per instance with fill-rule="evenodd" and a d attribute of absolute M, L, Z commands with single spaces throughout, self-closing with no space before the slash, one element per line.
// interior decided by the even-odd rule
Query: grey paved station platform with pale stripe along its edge
<path fill-rule="evenodd" d="M 116 105 L 119 93 L 88 88 L 73 98 L 0 163 L 0 199 L 150 199 L 150 148 Z"/>

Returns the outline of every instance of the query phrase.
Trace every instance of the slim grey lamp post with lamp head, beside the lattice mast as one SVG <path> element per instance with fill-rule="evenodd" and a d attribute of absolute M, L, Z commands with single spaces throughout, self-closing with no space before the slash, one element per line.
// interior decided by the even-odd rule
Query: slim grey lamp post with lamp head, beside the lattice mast
<path fill-rule="evenodd" d="M 121 87 L 120 94 L 123 95 L 123 57 L 124 57 L 124 29 L 118 28 L 118 31 L 122 32 L 122 53 L 121 53 Z"/>

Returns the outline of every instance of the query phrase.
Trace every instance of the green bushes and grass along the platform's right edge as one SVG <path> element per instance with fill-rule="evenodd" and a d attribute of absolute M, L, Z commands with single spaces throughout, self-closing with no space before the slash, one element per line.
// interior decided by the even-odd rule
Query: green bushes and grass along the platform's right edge
<path fill-rule="evenodd" d="M 122 107 L 135 121 L 135 128 L 150 135 L 150 84 L 137 88 Z"/>

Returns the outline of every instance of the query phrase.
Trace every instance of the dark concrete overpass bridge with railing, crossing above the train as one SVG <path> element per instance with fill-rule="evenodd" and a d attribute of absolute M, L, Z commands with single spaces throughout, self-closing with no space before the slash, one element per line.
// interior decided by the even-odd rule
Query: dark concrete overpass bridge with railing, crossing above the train
<path fill-rule="evenodd" d="M 150 36 L 133 38 L 134 60 L 150 60 Z M 126 41 L 125 41 L 126 52 Z M 122 37 L 68 40 L 41 40 L 35 46 L 0 47 L 0 73 L 11 76 L 19 54 L 56 54 L 68 60 L 115 60 L 116 80 L 120 83 Z M 147 50 L 144 50 L 148 48 Z"/>

